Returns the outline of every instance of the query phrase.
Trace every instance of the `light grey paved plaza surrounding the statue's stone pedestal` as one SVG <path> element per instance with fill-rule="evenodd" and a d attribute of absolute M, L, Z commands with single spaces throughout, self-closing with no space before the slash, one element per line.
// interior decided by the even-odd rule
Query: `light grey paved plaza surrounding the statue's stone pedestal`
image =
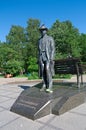
<path fill-rule="evenodd" d="M 70 81 L 75 80 L 73 77 Z M 86 130 L 86 103 L 63 115 L 50 114 L 35 121 L 11 112 L 11 106 L 24 90 L 20 86 L 31 87 L 38 82 L 28 82 L 27 78 L 0 78 L 0 130 Z"/>

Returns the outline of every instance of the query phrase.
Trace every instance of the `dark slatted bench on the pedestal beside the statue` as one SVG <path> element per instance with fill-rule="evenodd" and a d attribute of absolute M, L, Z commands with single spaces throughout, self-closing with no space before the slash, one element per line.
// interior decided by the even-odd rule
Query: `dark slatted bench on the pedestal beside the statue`
<path fill-rule="evenodd" d="M 78 58 L 55 60 L 55 74 L 76 74 L 78 88 L 80 88 L 80 84 L 83 84 L 83 69 Z M 79 77 L 81 77 L 81 83 Z"/>

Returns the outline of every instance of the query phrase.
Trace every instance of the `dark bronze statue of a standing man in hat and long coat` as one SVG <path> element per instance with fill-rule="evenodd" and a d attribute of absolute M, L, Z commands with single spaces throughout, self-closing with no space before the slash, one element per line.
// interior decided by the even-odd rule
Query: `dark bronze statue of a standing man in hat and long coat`
<path fill-rule="evenodd" d="M 52 93 L 52 76 L 54 76 L 54 53 L 55 44 L 51 36 L 47 35 L 48 29 L 42 25 L 40 28 L 41 38 L 38 43 L 39 50 L 39 74 L 43 79 L 40 91 Z"/>

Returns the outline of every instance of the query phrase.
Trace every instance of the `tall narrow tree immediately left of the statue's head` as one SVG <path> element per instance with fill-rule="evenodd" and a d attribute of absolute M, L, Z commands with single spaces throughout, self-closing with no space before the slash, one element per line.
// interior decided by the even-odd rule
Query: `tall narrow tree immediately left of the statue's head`
<path fill-rule="evenodd" d="M 26 68 L 28 71 L 29 63 L 31 62 L 31 57 L 36 58 L 37 60 L 37 51 L 38 51 L 38 39 L 40 36 L 39 33 L 40 21 L 38 19 L 29 19 L 27 21 L 26 27 L 26 38 L 27 38 L 27 50 L 26 50 Z"/>

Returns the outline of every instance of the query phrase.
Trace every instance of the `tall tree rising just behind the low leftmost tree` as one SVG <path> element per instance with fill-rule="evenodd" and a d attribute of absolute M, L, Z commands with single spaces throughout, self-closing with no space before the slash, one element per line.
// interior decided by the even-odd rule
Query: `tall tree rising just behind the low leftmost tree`
<path fill-rule="evenodd" d="M 18 54 L 16 60 L 23 62 L 25 68 L 26 58 L 26 34 L 25 29 L 21 26 L 12 26 L 9 34 L 6 36 L 6 43 Z M 15 54 L 16 54 L 15 53 Z M 14 57 L 13 57 L 14 59 Z"/>

